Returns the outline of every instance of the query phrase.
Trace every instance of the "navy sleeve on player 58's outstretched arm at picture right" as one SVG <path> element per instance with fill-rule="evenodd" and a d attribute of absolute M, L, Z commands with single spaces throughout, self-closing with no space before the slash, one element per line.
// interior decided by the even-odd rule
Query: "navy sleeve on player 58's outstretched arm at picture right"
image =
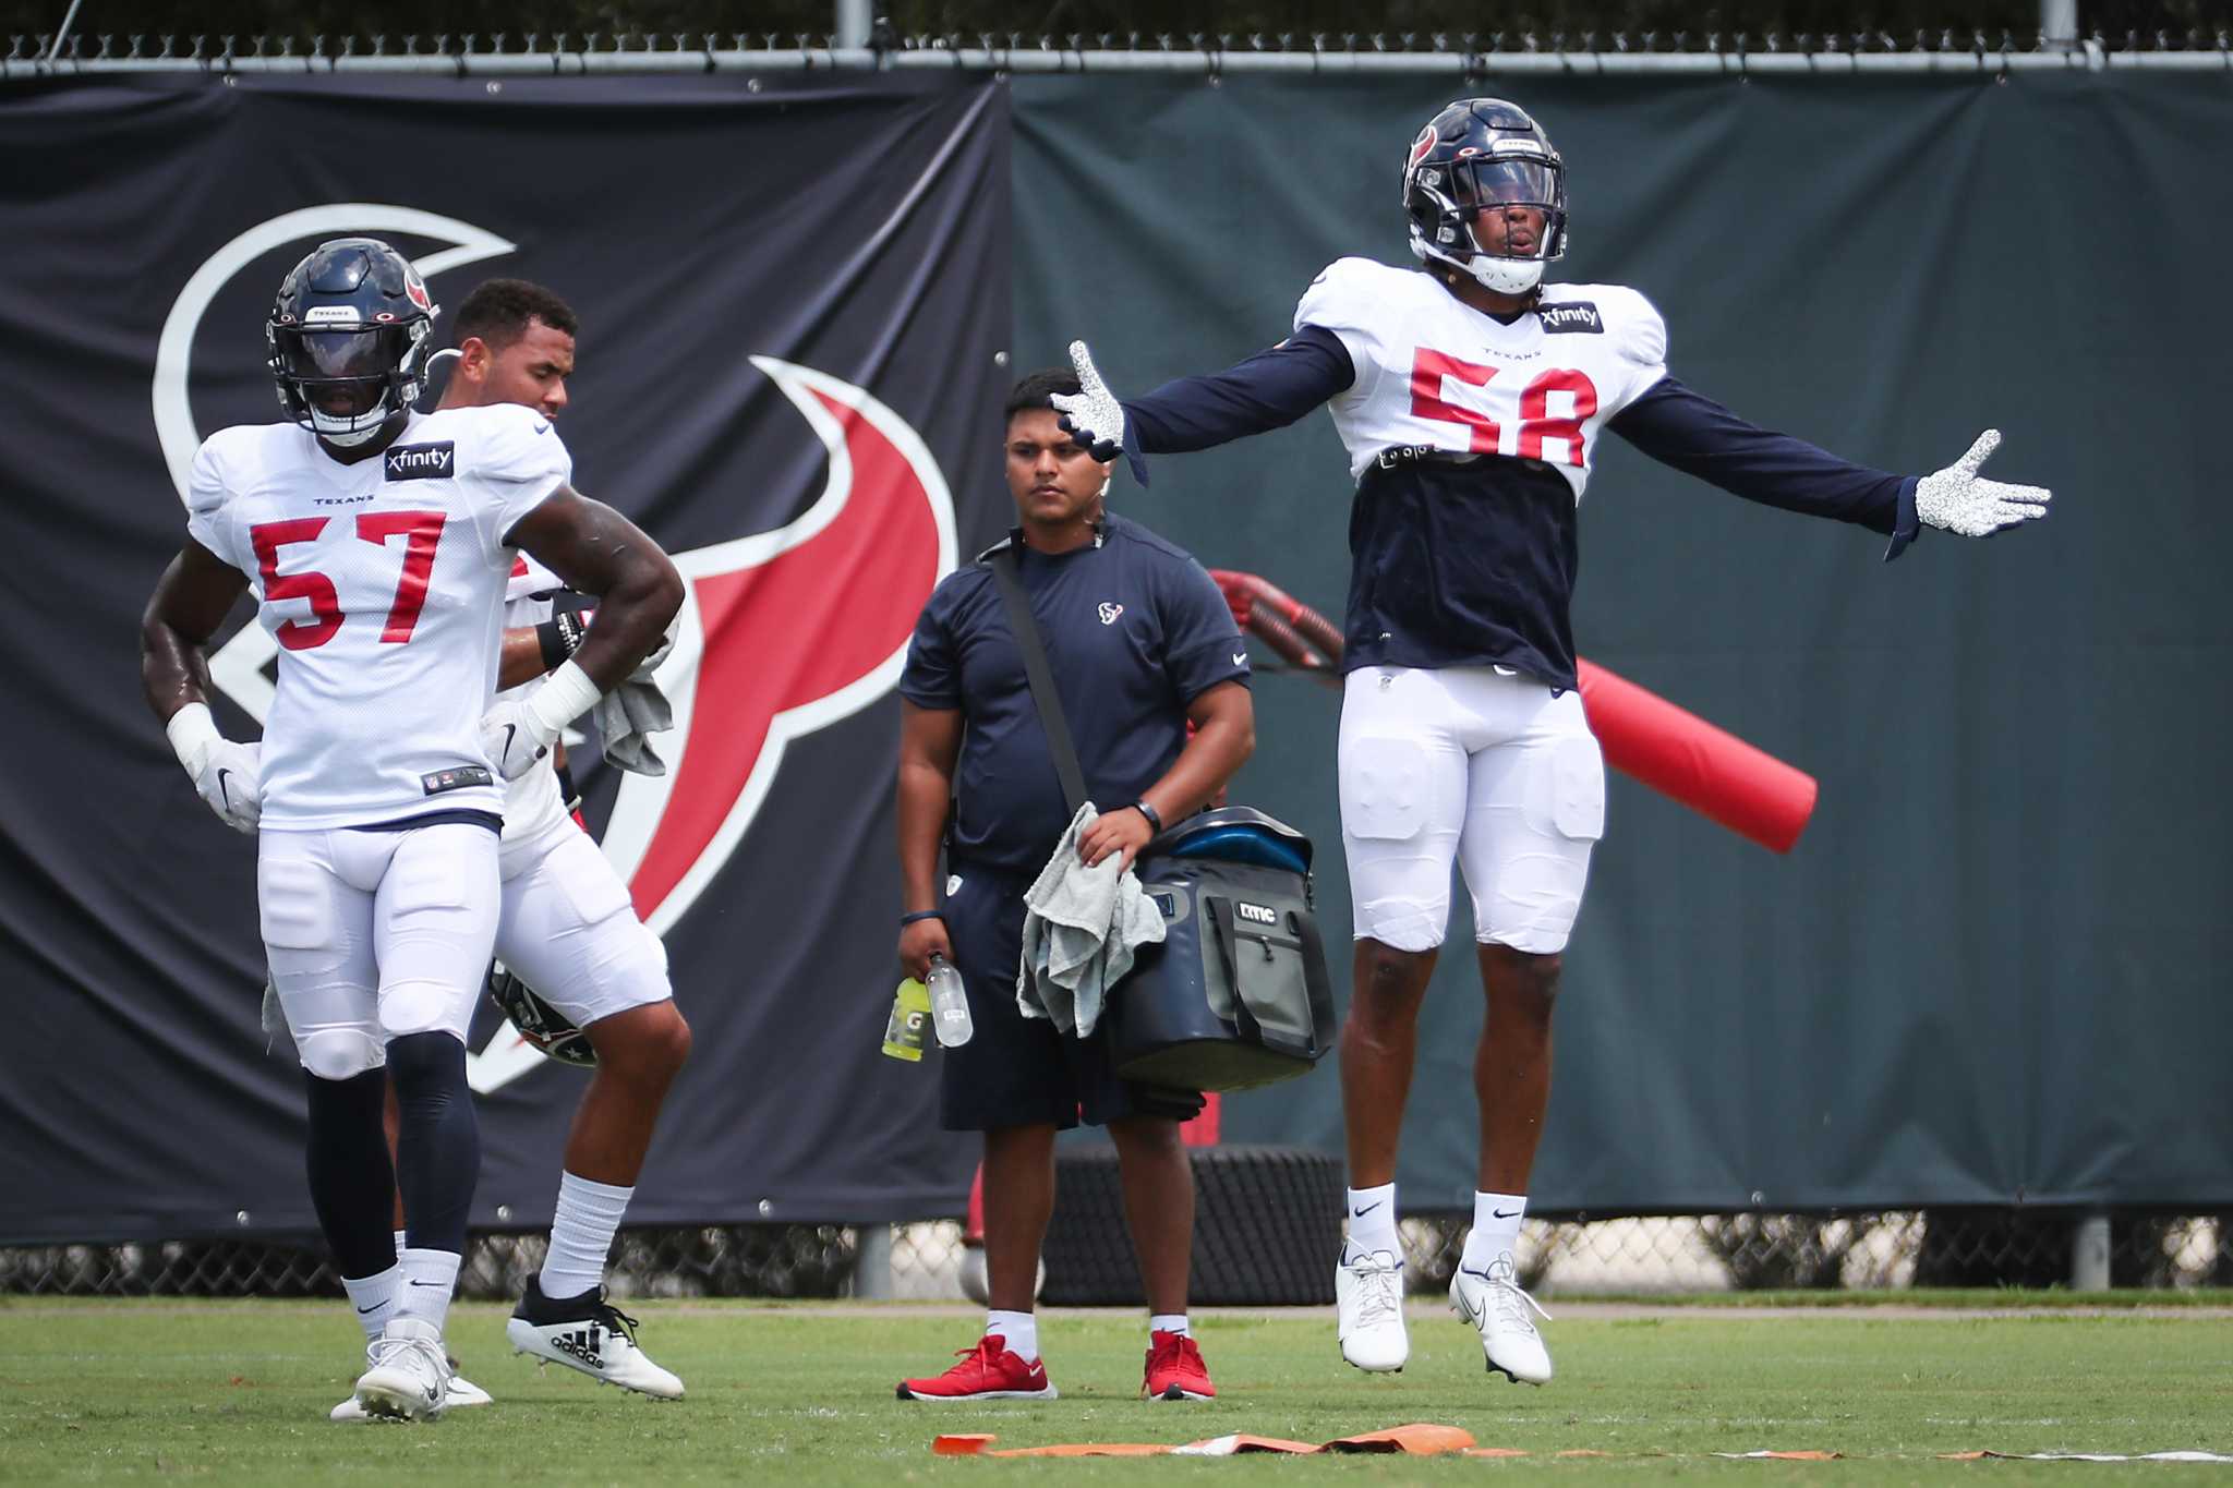
<path fill-rule="evenodd" d="M 1804 439 L 1746 424 L 1704 393 L 1661 377 L 1608 428 L 1659 464 L 1748 502 L 1889 533 L 1885 560 L 1916 540 L 1916 480 L 1851 464 Z"/>

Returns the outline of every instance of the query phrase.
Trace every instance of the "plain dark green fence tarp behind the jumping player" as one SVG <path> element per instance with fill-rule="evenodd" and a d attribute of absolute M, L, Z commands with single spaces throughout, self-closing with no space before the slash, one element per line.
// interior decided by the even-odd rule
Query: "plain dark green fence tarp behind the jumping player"
<path fill-rule="evenodd" d="M 1342 254 L 1407 261 L 1402 147 L 1443 80 L 1016 78 L 1016 366 L 1083 335 L 1119 393 L 1288 330 Z M 1536 80 L 1565 281 L 1641 288 L 1675 375 L 1755 422 L 2054 515 L 1900 562 L 1606 442 L 1576 638 L 1822 781 L 1789 859 L 1614 776 L 1568 955 L 1539 1209 L 2233 1202 L 2226 734 L 2233 346 L 2222 76 Z M 1331 419 L 1154 462 L 1132 515 L 1340 613 Z M 965 540 L 969 535 L 965 533 Z M 1237 799 L 1340 872 L 1338 698 L 1257 683 Z M 1407 1207 L 1474 1182 L 1460 897 Z M 1346 982 L 1346 968 L 1342 968 Z M 1340 1149 L 1331 1071 L 1237 1140 Z"/>

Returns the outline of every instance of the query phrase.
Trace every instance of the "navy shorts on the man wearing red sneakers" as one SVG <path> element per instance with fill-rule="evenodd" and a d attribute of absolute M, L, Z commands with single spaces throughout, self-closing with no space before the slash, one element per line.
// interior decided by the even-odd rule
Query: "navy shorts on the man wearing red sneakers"
<path fill-rule="evenodd" d="M 1016 1008 L 1023 959 L 1023 890 L 1029 879 L 956 866 L 947 892 L 947 937 L 969 991 L 976 1033 L 940 1049 L 938 1124 L 947 1131 L 1105 1127 L 1130 1115 L 1186 1120 L 1199 1095 L 1119 1080 L 1108 1026 L 1087 1040 L 1056 1033 L 1045 1017 Z"/>

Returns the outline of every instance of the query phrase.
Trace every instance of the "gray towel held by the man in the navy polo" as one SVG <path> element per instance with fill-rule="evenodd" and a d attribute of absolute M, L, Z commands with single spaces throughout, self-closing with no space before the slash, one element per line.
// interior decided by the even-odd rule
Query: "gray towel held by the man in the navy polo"
<path fill-rule="evenodd" d="M 1119 854 L 1094 868 L 1079 861 L 1079 837 L 1101 812 L 1087 801 L 1063 830 L 1054 857 L 1023 895 L 1023 964 L 1016 1006 L 1050 1017 L 1063 1033 L 1090 1037 L 1110 986 L 1132 970 L 1139 946 L 1163 941 L 1163 912 Z"/>

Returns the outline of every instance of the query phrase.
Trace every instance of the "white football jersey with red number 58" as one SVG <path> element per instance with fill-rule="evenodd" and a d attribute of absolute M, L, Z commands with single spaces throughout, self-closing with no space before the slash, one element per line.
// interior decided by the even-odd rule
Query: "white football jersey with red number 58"
<path fill-rule="evenodd" d="M 1304 326 L 1358 370 L 1329 404 L 1351 477 L 1387 448 L 1494 453 L 1550 464 L 1579 502 L 1606 419 L 1666 377 L 1666 321 L 1617 283 L 1547 283 L 1505 326 L 1422 270 L 1335 259 L 1295 306 Z"/>

